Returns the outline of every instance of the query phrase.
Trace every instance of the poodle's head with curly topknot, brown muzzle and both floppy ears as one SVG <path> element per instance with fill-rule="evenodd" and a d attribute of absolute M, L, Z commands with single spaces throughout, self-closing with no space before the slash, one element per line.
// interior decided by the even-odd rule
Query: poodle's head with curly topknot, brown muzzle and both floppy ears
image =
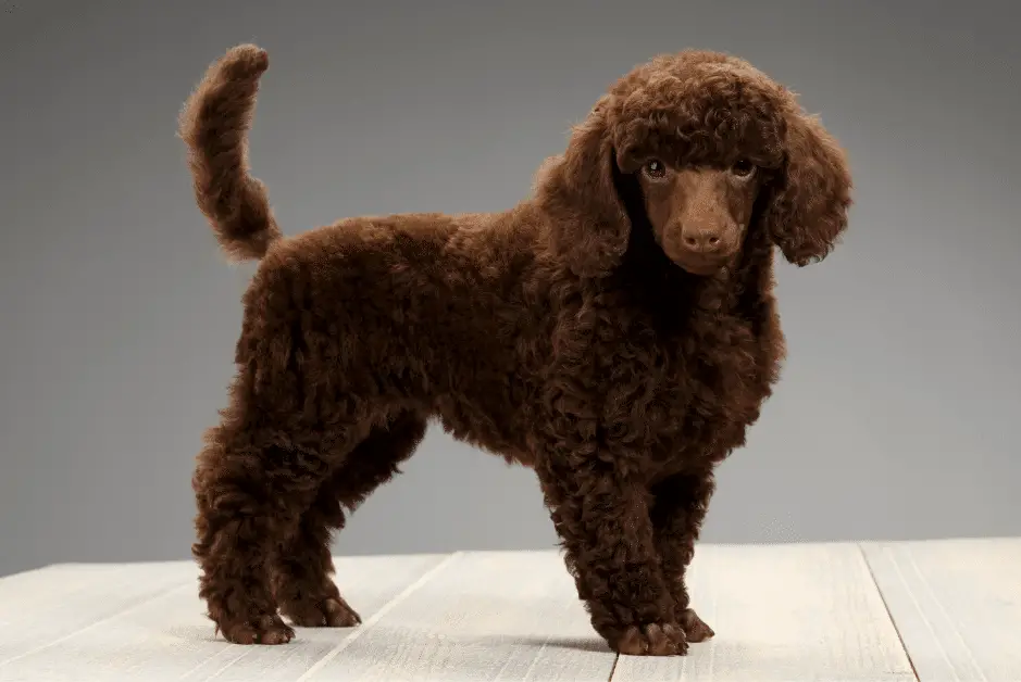
<path fill-rule="evenodd" d="M 847 225 L 851 180 L 836 141 L 795 96 L 715 52 L 663 55 L 621 78 L 543 168 L 552 247 L 583 277 L 610 273 L 640 207 L 676 265 L 709 275 L 750 230 L 792 263 L 824 258 Z"/>

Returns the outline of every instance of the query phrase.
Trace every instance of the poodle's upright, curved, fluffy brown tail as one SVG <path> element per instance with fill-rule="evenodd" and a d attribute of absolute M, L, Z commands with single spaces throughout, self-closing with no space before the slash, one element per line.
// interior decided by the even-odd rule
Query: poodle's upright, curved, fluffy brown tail
<path fill-rule="evenodd" d="M 269 65 L 261 48 L 232 48 L 209 67 L 180 113 L 196 202 L 233 261 L 261 258 L 282 237 L 265 186 L 248 167 L 247 132 Z"/>

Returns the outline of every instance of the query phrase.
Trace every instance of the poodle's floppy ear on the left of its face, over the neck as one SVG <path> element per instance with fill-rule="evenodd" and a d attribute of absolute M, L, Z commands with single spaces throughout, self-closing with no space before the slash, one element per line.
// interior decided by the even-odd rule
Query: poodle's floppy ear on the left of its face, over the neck
<path fill-rule="evenodd" d="M 617 160 L 601 100 L 577 125 L 566 151 L 536 178 L 550 220 L 550 247 L 578 277 L 609 274 L 627 249 L 631 220 L 618 194 Z"/>

